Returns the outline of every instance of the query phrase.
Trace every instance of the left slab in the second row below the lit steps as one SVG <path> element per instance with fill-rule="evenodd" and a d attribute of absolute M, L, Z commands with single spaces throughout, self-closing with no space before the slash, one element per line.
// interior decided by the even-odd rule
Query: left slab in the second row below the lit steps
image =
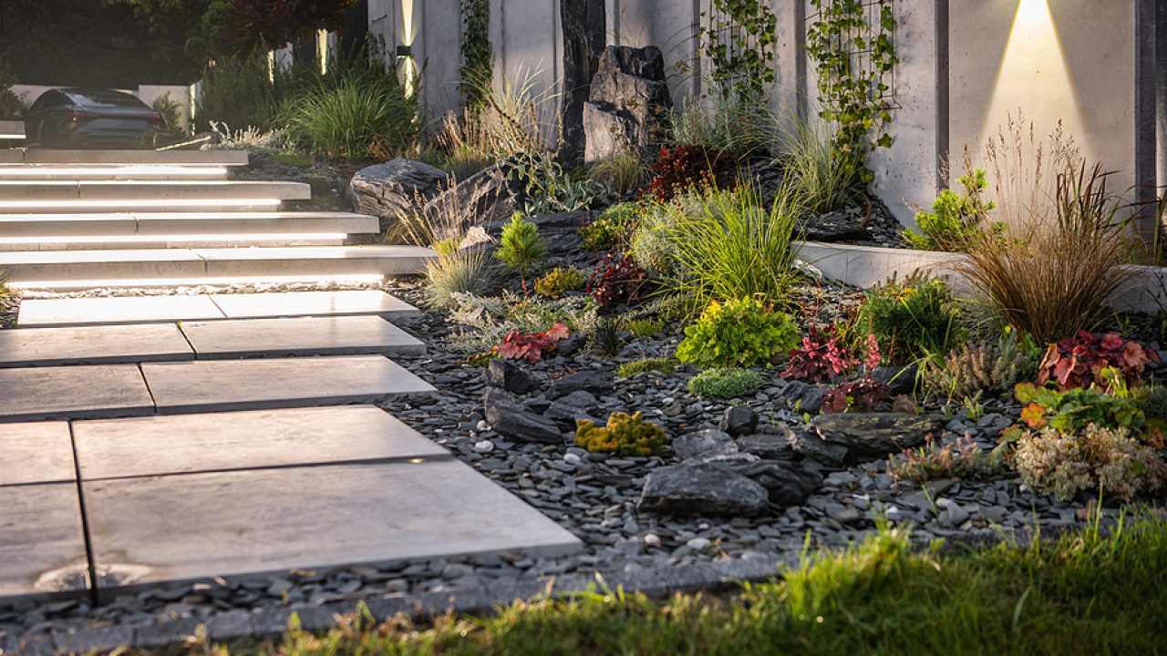
<path fill-rule="evenodd" d="M 194 360 L 174 323 L 0 330 L 0 368 Z"/>

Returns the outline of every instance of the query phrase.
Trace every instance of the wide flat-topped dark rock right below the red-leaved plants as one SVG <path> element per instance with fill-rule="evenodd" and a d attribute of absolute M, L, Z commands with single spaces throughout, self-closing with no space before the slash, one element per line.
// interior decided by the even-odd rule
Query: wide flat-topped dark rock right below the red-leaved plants
<path fill-rule="evenodd" d="M 847 449 L 847 462 L 867 462 L 924 444 L 939 424 L 927 414 L 839 412 L 811 419 L 811 430 L 831 446 Z"/>

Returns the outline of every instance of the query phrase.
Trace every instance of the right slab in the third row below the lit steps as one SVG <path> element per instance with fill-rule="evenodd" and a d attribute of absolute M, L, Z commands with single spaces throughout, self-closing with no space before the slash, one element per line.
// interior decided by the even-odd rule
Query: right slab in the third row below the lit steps
<path fill-rule="evenodd" d="M 375 403 L 436 391 L 379 355 L 153 362 L 141 368 L 160 414 Z"/>

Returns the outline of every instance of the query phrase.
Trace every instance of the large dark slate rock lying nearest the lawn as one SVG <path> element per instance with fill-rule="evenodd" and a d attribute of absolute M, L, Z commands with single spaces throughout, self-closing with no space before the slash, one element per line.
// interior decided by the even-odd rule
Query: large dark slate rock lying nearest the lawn
<path fill-rule="evenodd" d="M 750 517 L 769 509 L 769 493 L 725 465 L 678 465 L 648 475 L 637 508 L 678 517 Z"/>

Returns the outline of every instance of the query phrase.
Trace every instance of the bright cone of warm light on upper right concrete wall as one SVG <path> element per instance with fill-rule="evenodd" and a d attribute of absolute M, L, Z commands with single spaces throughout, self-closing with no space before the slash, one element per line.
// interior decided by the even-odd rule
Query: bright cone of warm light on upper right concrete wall
<path fill-rule="evenodd" d="M 1020 0 L 1001 58 L 992 103 L 981 126 L 981 142 L 997 134 L 1007 114 L 1025 110 L 1039 134 L 1058 120 L 1068 134 L 1084 134 L 1070 71 L 1049 11 L 1049 0 Z"/>

